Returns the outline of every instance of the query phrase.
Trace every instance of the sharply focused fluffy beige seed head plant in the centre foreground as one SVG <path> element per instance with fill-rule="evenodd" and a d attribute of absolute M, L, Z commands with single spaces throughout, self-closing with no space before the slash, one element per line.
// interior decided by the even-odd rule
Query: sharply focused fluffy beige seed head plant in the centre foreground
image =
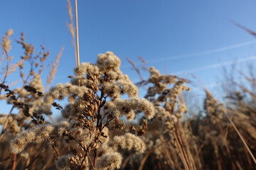
<path fill-rule="evenodd" d="M 139 112 L 143 112 L 147 119 L 155 114 L 153 104 L 138 97 L 137 86 L 122 74 L 120 64 L 121 60 L 113 52 L 106 52 L 98 55 L 95 64 L 83 62 L 80 67 L 75 67 L 75 77 L 70 77 L 70 82 L 51 87 L 43 98 L 46 105 L 60 109 L 63 118 L 69 121 L 53 125 L 45 123 L 23 130 L 12 140 L 12 152 L 22 152 L 29 143 L 55 142 L 61 138 L 62 145 L 71 148 L 71 153 L 58 159 L 56 166 L 59 169 L 116 169 L 122 164 L 122 150 L 142 154 L 146 146 L 137 135 L 145 133 L 146 120 L 137 135 L 129 133 L 129 129 L 124 130 L 124 135 L 110 135 L 110 129 L 114 127 L 110 123 L 122 115 L 127 120 L 134 120 Z M 36 83 L 33 85 L 40 89 Z M 122 99 L 124 94 L 129 98 Z M 69 103 L 64 108 L 55 103 L 65 98 Z M 118 121 L 115 123 L 123 125 Z M 91 164 L 89 157 L 94 160 Z"/>

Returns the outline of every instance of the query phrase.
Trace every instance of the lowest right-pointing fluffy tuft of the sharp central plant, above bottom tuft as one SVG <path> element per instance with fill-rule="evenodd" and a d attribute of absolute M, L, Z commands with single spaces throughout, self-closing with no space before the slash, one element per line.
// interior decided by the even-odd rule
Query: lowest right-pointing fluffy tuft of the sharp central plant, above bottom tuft
<path fill-rule="evenodd" d="M 145 143 L 142 141 L 142 139 L 136 135 L 133 135 L 132 133 L 126 133 L 122 136 L 115 136 L 110 143 L 110 146 L 117 150 L 120 149 L 127 149 L 127 150 L 134 150 L 138 153 L 143 153 L 146 149 Z"/>

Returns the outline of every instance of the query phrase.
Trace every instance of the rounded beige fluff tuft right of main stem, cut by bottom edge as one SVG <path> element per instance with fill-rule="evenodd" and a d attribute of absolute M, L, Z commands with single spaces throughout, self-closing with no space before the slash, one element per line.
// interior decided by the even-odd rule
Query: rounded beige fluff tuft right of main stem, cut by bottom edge
<path fill-rule="evenodd" d="M 119 169 L 122 164 L 122 155 L 118 152 L 112 152 L 104 154 L 97 161 L 97 169 L 107 170 L 107 169 Z"/>

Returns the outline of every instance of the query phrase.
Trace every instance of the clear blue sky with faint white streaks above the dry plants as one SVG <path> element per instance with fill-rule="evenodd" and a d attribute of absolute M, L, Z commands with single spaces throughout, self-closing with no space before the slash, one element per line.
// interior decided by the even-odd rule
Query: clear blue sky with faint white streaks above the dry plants
<path fill-rule="evenodd" d="M 67 2 L 8 0 L 0 6 L 0 35 L 12 28 L 14 40 L 23 32 L 36 50 L 44 42 L 49 62 L 65 47 L 53 85 L 68 81 L 75 57 L 65 25 Z M 74 11 L 74 1 L 72 6 Z M 139 63 L 142 56 L 162 73 L 193 73 L 211 87 L 223 76 L 223 66 L 255 62 L 256 38 L 230 22 L 256 31 L 255 7 L 254 0 L 78 0 L 80 61 L 94 63 L 97 54 L 112 51 L 121 58 L 122 71 L 137 82 L 126 57 Z M 18 59 L 21 52 L 13 41 L 10 55 Z"/>

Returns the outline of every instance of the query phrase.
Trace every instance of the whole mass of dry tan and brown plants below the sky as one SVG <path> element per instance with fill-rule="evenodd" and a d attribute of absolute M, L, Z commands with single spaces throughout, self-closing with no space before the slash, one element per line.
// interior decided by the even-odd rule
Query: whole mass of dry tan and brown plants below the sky
<path fill-rule="evenodd" d="M 68 12 L 72 16 L 71 8 Z M 41 46 L 35 55 L 22 34 L 17 42 L 24 54 L 12 63 L 12 33 L 1 39 L 0 98 L 12 108 L 0 114 L 0 169 L 255 169 L 255 77 L 240 72 L 252 88 L 229 81 L 235 90 L 229 89 L 226 103 L 203 89 L 202 110 L 183 118 L 188 110 L 182 94 L 190 81 L 150 67 L 149 78 L 135 85 L 113 52 L 98 55 L 95 64 L 82 62 L 70 82 L 43 92 L 49 52 Z M 13 72 L 21 77 L 15 89 L 8 85 L 17 82 L 6 81 Z M 147 89 L 144 98 L 138 96 L 139 86 Z M 65 98 L 68 104 L 60 106 Z M 61 111 L 60 120 L 51 118 L 52 109 Z M 137 118 L 138 113 L 144 116 Z"/>

